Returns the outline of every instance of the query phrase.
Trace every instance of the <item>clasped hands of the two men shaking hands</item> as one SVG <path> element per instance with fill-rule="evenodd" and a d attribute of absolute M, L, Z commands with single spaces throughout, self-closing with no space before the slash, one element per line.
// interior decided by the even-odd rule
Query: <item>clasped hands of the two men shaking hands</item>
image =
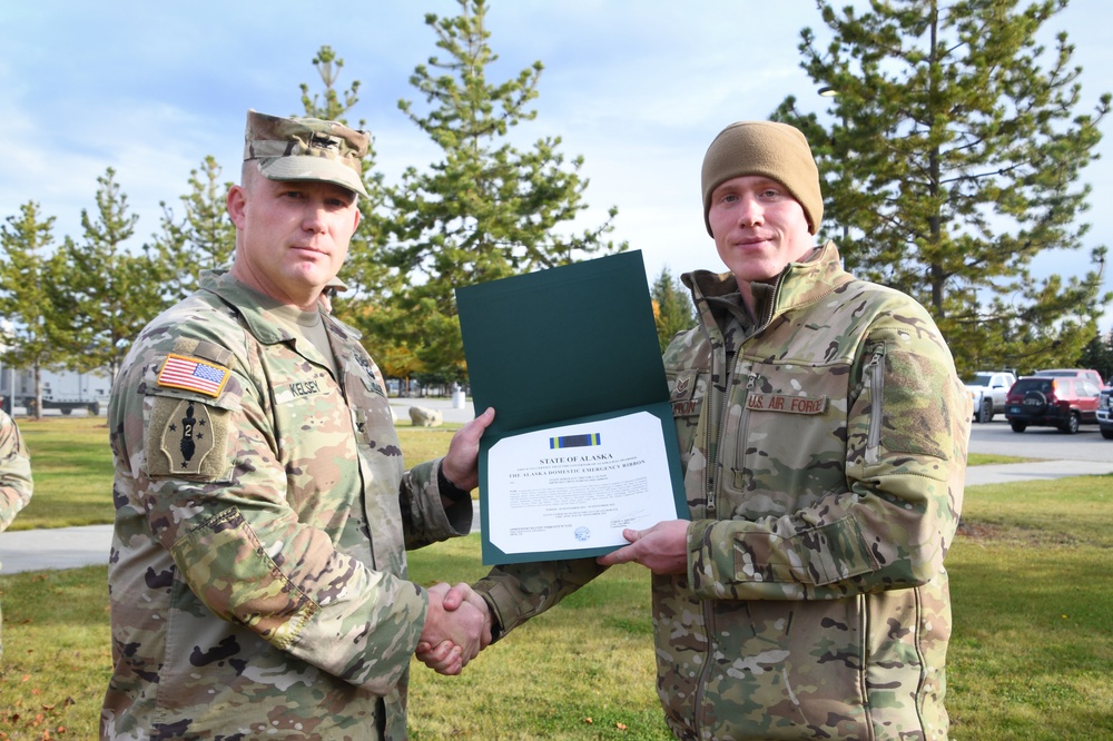
<path fill-rule="evenodd" d="M 459 674 L 491 644 L 493 618 L 467 584 L 444 582 L 429 590 L 429 612 L 417 642 L 417 660 L 440 674 Z"/>

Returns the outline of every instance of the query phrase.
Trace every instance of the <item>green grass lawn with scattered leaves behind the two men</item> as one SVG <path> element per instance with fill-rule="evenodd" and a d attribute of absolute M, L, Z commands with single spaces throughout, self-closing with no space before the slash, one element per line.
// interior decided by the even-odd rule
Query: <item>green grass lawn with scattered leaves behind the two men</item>
<path fill-rule="evenodd" d="M 106 441 L 107 431 L 82 423 L 59 421 L 51 434 L 55 419 L 41 427 L 20 421 L 37 491 L 17 523 L 35 506 L 49 521 L 47 512 L 72 510 L 71 498 L 106 496 L 110 470 L 82 453 L 81 441 Z M 400 433 L 415 436 L 403 442 L 410 461 L 434 457 L 449 437 Z M 50 447 L 52 436 L 71 439 Z M 416 452 L 426 444 L 427 452 Z M 70 462 L 70 451 L 79 462 Z M 43 477 L 45 467 L 57 478 Z M 85 486 L 56 490 L 57 481 Z M 1113 738 L 1111 553 L 1113 476 L 967 490 L 963 531 L 947 559 L 953 739 Z M 485 571 L 475 535 L 411 554 L 411 577 L 424 584 Z M 110 665 L 105 572 L 0 574 L 0 739 L 96 738 Z M 653 689 L 651 634 L 648 573 L 613 569 L 489 649 L 462 676 L 415 663 L 411 737 L 669 739 Z"/>

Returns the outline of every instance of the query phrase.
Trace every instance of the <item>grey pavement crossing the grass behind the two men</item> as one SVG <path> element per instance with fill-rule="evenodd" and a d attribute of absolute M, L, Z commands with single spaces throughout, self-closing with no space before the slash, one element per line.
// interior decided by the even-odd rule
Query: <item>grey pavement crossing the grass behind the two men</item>
<path fill-rule="evenodd" d="M 414 405 L 440 409 L 445 422 L 466 422 L 474 416 L 471 402 L 457 407 L 450 399 L 391 399 L 391 405 L 403 419 Z M 974 466 L 966 474 L 971 486 L 1113 473 L 1113 441 L 1104 439 L 1096 427 L 1090 426 L 1077 435 L 1064 435 L 1038 427 L 1017 434 L 1004 419 L 975 424 L 971 452 L 1037 458 L 1033 463 Z M 476 512 L 476 527 L 479 522 Z M 111 540 L 111 525 L 0 533 L 2 573 L 106 563 Z"/>

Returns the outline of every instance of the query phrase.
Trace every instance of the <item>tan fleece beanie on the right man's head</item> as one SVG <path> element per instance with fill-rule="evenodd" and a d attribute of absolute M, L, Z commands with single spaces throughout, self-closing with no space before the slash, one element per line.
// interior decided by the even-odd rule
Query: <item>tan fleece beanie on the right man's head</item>
<path fill-rule="evenodd" d="M 799 129 L 775 121 L 738 121 L 719 131 L 703 155 L 701 174 L 703 224 L 708 234 L 711 234 L 708 220 L 711 191 L 742 175 L 764 175 L 784 185 L 804 207 L 808 233 L 819 230 L 824 219 L 819 168 Z"/>

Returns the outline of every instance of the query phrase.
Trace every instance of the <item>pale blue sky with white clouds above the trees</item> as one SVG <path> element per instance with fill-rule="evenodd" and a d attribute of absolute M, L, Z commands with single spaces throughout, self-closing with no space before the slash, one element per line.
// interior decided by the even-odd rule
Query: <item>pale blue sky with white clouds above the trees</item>
<path fill-rule="evenodd" d="M 97 177 L 112 167 L 140 217 L 138 246 L 158 230 L 159 201 L 177 205 L 207 155 L 237 178 L 248 108 L 301 112 L 298 83 L 319 89 L 311 61 L 322 45 L 345 60 L 338 87 L 361 81 L 349 118 L 366 121 L 377 169 L 396 182 L 439 159 L 397 101 L 423 102 L 408 77 L 437 51 L 424 14 L 456 11 L 452 0 L 2 2 L 0 218 L 36 200 L 57 218 L 58 241 L 79 237 L 80 211 L 93 210 Z M 766 118 L 789 93 L 805 110 L 829 105 L 799 67 L 800 29 L 825 30 L 810 0 L 491 0 L 487 26 L 500 56 L 489 79 L 545 66 L 522 144 L 559 135 L 565 156 L 584 157 L 583 225 L 617 206 L 612 237 L 643 251 L 650 277 L 721 269 L 699 166 L 723 126 Z M 1111 27 L 1113 6 L 1073 0 L 1045 28 L 1048 42 L 1065 30 L 1076 46 L 1085 110 L 1113 89 Z M 1083 171 L 1094 189 L 1087 247 L 1113 246 L 1113 121 L 1103 130 L 1103 159 Z M 1081 275 L 1087 255 L 1047 255 L 1036 270 Z"/>

